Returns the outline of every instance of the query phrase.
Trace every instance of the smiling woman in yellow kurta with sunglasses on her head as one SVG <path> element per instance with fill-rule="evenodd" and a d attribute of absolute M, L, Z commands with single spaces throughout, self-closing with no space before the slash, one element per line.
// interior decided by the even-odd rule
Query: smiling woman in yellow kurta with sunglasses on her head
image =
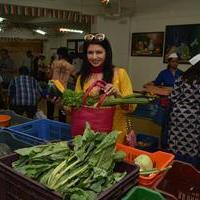
<path fill-rule="evenodd" d="M 133 93 L 132 84 L 125 69 L 112 64 L 112 49 L 109 41 L 102 33 L 84 37 L 83 64 L 76 83 L 76 91 L 86 89 L 97 80 L 107 82 L 104 92 L 108 95 L 126 96 Z M 90 95 L 98 95 L 100 89 L 95 89 Z M 113 130 L 121 131 L 118 142 L 123 142 L 126 134 L 127 109 L 117 106 Z"/>

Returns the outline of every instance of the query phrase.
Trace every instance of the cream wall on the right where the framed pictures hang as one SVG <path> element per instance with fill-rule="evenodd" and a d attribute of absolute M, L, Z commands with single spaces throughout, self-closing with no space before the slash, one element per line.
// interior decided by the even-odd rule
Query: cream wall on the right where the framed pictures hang
<path fill-rule="evenodd" d="M 166 25 L 198 24 L 200 21 L 199 0 L 176 0 L 173 3 L 170 0 L 140 0 L 136 6 L 136 15 L 131 19 L 131 33 L 165 31 Z M 166 64 L 163 63 L 163 57 L 130 56 L 128 66 L 134 88 L 142 89 L 142 85 L 153 80 Z M 179 68 L 185 70 L 188 66 L 180 64 Z"/>

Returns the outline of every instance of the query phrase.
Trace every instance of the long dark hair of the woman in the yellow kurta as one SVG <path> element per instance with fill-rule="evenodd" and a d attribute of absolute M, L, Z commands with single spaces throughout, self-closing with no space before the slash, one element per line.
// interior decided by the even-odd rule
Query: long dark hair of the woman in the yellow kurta
<path fill-rule="evenodd" d="M 90 44 L 97 44 L 102 46 L 106 51 L 105 61 L 103 65 L 103 80 L 107 83 L 111 83 L 113 80 L 114 75 L 114 66 L 112 64 L 112 48 L 107 38 L 103 41 L 99 41 L 96 39 L 93 40 L 86 40 L 83 44 L 83 63 L 80 70 L 80 83 L 81 88 L 83 89 L 84 83 L 90 77 L 90 68 L 92 67 L 91 64 L 88 62 L 87 58 L 87 50 Z"/>

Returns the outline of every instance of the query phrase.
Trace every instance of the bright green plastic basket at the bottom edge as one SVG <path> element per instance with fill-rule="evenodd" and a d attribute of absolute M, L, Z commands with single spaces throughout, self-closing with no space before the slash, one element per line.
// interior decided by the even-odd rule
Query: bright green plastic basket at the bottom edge
<path fill-rule="evenodd" d="M 159 192 L 136 186 L 122 200 L 165 200 L 165 198 Z"/>

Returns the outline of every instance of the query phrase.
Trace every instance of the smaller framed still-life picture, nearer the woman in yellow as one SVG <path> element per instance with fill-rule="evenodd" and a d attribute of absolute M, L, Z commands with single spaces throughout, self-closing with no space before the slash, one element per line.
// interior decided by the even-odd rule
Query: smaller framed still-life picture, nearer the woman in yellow
<path fill-rule="evenodd" d="M 164 32 L 132 33 L 131 56 L 162 56 Z"/>

